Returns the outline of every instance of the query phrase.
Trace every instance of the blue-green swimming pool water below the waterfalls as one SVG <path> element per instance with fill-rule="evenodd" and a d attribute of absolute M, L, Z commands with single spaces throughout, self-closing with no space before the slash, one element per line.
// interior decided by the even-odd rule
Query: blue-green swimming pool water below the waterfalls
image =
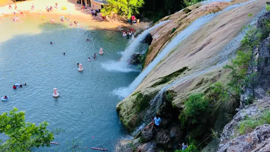
<path fill-rule="evenodd" d="M 139 73 L 106 71 L 101 67 L 104 62 L 121 58 L 119 52 L 124 51 L 128 43 L 121 33 L 29 24 L 34 22 L 31 18 L 21 23 L 11 22 L 9 18 L 2 20 L 0 96 L 10 96 L 10 100 L 0 102 L 0 113 L 17 107 L 25 111 L 26 121 L 36 124 L 48 121 L 49 129 L 64 129 L 65 132 L 55 135 L 53 140 L 62 144 L 60 151 L 69 147 L 66 143 L 71 143 L 73 138 L 80 139 L 82 147 L 103 145 L 112 150 L 111 145 L 117 139 L 126 137 L 116 113 L 121 99 L 112 91 L 127 87 Z M 98 54 L 100 47 L 104 55 Z M 94 53 L 97 53 L 96 60 L 91 57 L 88 61 Z M 78 72 L 77 63 L 83 65 L 83 72 Z M 13 90 L 14 83 L 27 86 Z M 52 98 L 54 87 L 60 94 L 57 99 Z M 0 139 L 5 137 L 1 135 Z M 42 150 L 56 147 L 51 145 L 50 149 Z"/>

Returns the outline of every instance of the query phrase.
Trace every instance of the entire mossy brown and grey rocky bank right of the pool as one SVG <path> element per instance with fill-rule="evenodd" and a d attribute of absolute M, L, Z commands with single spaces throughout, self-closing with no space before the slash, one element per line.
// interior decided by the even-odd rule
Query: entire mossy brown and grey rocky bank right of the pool
<path fill-rule="evenodd" d="M 250 141 L 253 142 L 253 145 L 249 143 L 250 152 L 256 149 L 254 145 L 261 144 L 262 148 L 267 145 L 262 143 L 267 143 L 269 140 L 269 125 L 256 127 L 254 130 L 250 130 L 248 134 L 242 135 L 243 137 L 238 134 L 239 137 L 237 135 L 232 138 L 231 134 L 233 134 L 234 127 L 244 120 L 243 113 L 245 113 L 245 110 L 262 110 L 260 109 L 261 106 L 258 105 L 265 106 L 263 107 L 265 110 L 270 107 L 268 99 L 265 98 L 269 89 L 270 68 L 268 67 L 269 51 L 267 51 L 269 50 L 269 38 L 265 39 L 258 49 L 258 56 L 263 58 L 264 61 L 259 62 L 260 65 L 257 66 L 258 80 L 260 81 L 256 86 L 256 97 L 264 98 L 263 100 L 245 107 L 244 111 L 240 110 L 231 123 L 229 123 L 230 119 L 227 116 L 235 115 L 235 109 L 240 106 L 238 101 L 232 99 L 226 102 L 212 101 L 210 104 L 211 111 L 200 116 L 204 119 L 203 123 L 191 124 L 183 128 L 178 119 L 184 109 L 183 101 L 193 93 L 204 93 L 207 96 L 212 96 L 209 91 L 211 84 L 217 81 L 228 81 L 229 71 L 222 68 L 228 62 L 228 58 L 235 56 L 239 50 L 245 51 L 246 48 L 241 47 L 241 40 L 244 36 L 242 27 L 254 21 L 257 22 L 257 16 L 262 15 L 261 12 L 266 3 L 264 0 L 254 0 L 226 10 L 227 7 L 240 2 L 247 1 L 212 2 L 205 5 L 198 3 L 165 17 L 162 20 L 170 20 L 167 24 L 150 31 L 152 42 L 147 51 L 145 67 L 167 47 L 177 34 L 181 33 L 196 19 L 224 10 L 177 44 L 151 70 L 135 91 L 117 105 L 120 120 L 129 131 L 134 131 L 143 123 L 149 123 L 150 115 L 155 112 L 158 112 L 162 119 L 162 128 L 157 135 L 153 135 L 148 128 L 141 129 L 134 140 L 125 141 L 120 145 L 121 151 L 173 151 L 179 149 L 178 144 L 189 140 L 189 137 L 196 140 L 196 145 L 199 145 L 200 149 L 206 145 L 212 145 L 211 148 L 205 147 L 204 152 L 214 152 L 217 149 L 220 152 L 231 152 L 229 150 L 233 150 L 233 147 L 232 149 L 228 147 L 236 145 L 236 141 L 240 138 L 244 140 L 247 136 L 252 137 Z M 248 16 L 248 14 L 252 14 L 252 16 Z M 265 18 L 261 17 L 258 20 L 258 26 L 263 19 L 266 19 L 267 15 L 264 16 Z M 265 51 L 260 53 L 260 50 Z M 255 110 L 253 113 L 259 115 L 259 111 Z M 226 125 L 227 123 L 229 124 Z M 212 137 L 211 129 L 222 131 L 225 125 L 221 136 L 221 145 L 219 146 L 218 139 L 217 142 L 213 142 L 215 139 Z M 258 139 L 255 139 L 255 137 Z M 248 145 L 244 142 L 238 143 L 243 144 L 244 147 Z M 248 151 L 243 149 L 243 151 L 235 152 Z"/>

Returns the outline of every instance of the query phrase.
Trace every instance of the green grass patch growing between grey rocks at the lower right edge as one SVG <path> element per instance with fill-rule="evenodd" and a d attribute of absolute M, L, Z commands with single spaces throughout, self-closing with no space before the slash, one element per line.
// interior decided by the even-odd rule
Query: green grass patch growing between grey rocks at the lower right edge
<path fill-rule="evenodd" d="M 265 111 L 261 117 L 245 118 L 244 121 L 239 123 L 238 131 L 241 135 L 243 135 L 264 124 L 270 124 L 270 111 Z"/>

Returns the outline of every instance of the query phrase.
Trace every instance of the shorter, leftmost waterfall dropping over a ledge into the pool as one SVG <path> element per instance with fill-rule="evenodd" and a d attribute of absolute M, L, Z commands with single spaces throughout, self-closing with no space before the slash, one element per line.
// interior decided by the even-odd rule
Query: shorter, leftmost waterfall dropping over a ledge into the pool
<path fill-rule="evenodd" d="M 138 71 L 140 72 L 141 70 L 138 70 L 136 68 L 134 68 L 134 66 L 132 65 L 128 65 L 128 59 L 130 58 L 130 56 L 133 53 L 138 52 L 138 46 L 142 43 L 142 41 L 144 40 L 144 38 L 147 36 L 147 34 L 154 28 L 163 25 L 167 22 L 169 22 L 170 20 L 167 21 L 161 21 L 158 24 L 155 24 L 152 27 L 147 28 L 146 30 L 144 30 L 137 38 L 132 38 L 128 45 L 127 48 L 125 49 L 125 51 L 123 51 L 123 55 L 122 58 L 119 62 L 115 62 L 112 61 L 110 63 L 103 63 L 102 67 L 108 71 L 120 71 L 120 72 L 131 72 L 131 71 Z"/>

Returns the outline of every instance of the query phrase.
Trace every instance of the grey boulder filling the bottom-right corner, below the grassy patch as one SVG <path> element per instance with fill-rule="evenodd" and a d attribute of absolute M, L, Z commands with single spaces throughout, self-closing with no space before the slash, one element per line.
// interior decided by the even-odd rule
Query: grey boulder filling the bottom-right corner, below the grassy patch
<path fill-rule="evenodd" d="M 251 133 L 221 144 L 218 152 L 270 152 L 270 125 L 262 125 Z"/>

